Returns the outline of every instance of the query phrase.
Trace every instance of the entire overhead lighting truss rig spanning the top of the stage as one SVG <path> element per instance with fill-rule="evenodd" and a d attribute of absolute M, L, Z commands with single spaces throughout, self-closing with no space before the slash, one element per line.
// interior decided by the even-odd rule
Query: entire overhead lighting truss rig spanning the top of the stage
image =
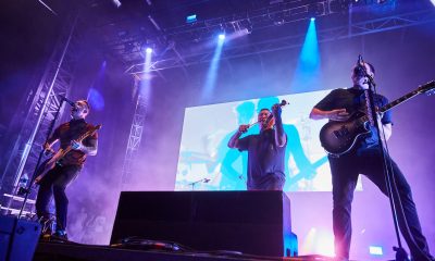
<path fill-rule="evenodd" d="M 365 34 L 391 30 L 407 26 L 430 23 L 435 20 L 433 9 L 414 8 L 414 11 L 396 11 L 397 0 L 278 0 L 257 7 L 245 13 L 210 20 L 197 17 L 195 23 L 182 23 L 175 27 L 158 24 L 158 18 L 145 18 L 151 23 L 138 30 L 108 22 L 108 32 L 103 35 L 107 52 L 126 64 L 126 73 L 138 76 L 144 71 L 144 42 L 152 42 L 153 58 L 151 72 L 166 69 L 186 67 L 209 62 L 212 58 L 213 44 L 219 32 L 225 32 L 228 41 L 221 59 L 247 57 L 251 54 L 299 47 L 306 32 L 294 25 L 315 17 L 319 41 L 332 41 Z M 417 11 L 415 11 L 417 10 Z M 363 15 L 357 15 L 361 14 Z M 370 14 L 370 15 L 366 15 Z M 325 27 L 323 21 L 340 21 Z M 323 25 L 323 26 L 322 26 Z M 285 26 L 283 29 L 277 27 Z M 105 28 L 102 28 L 103 30 Z M 111 32 L 117 28 L 117 32 Z M 262 37 L 263 33 L 274 32 Z M 231 35 L 249 37 L 249 44 L 236 41 Z M 241 38 L 243 39 L 243 38 Z M 140 78 L 140 77 L 137 77 Z"/>

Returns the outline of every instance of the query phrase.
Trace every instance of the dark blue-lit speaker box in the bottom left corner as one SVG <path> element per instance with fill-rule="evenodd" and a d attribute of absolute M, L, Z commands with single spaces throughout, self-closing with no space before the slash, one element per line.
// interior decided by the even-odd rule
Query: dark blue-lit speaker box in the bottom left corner
<path fill-rule="evenodd" d="M 0 216 L 0 261 L 30 261 L 39 240 L 38 222 Z"/>

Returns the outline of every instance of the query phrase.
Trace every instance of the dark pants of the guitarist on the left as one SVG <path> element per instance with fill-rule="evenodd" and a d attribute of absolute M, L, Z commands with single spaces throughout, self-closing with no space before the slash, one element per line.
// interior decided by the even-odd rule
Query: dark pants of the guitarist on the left
<path fill-rule="evenodd" d="M 36 214 L 39 219 L 48 219 L 50 216 L 49 204 L 52 196 L 54 196 L 57 229 L 66 228 L 69 200 L 65 189 L 75 179 L 80 170 L 82 167 L 77 165 L 57 165 L 39 183 Z"/>

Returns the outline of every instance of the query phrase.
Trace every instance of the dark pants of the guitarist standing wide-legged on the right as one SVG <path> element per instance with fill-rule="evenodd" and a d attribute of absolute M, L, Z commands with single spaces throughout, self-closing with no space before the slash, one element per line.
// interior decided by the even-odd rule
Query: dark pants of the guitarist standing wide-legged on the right
<path fill-rule="evenodd" d="M 333 226 L 335 235 L 335 251 L 340 258 L 349 258 L 351 226 L 351 203 L 353 190 L 357 185 L 358 175 L 363 174 L 372 181 L 383 194 L 387 195 L 382 156 L 378 150 L 366 150 L 362 153 L 350 152 L 339 158 L 330 157 L 331 171 L 333 176 Z M 405 219 L 414 241 L 426 254 L 428 247 L 426 238 L 422 234 L 415 203 L 412 199 L 411 188 L 403 174 L 391 160 L 394 179 L 403 207 Z M 399 227 L 410 248 L 414 260 L 426 260 L 422 258 L 421 251 L 414 246 L 412 238 L 403 233 L 406 229 L 405 220 L 398 214 Z"/>

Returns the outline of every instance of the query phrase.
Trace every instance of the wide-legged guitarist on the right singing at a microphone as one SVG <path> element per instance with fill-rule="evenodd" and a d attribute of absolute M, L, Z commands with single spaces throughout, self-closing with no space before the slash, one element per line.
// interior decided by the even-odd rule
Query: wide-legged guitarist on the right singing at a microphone
<path fill-rule="evenodd" d="M 361 63 L 369 75 L 374 77 L 375 70 L 370 63 Z M 310 119 L 345 122 L 358 112 L 366 112 L 366 99 L 364 90 L 369 89 L 368 78 L 361 66 L 357 65 L 352 70 L 351 79 L 353 86 L 347 89 L 335 89 L 314 105 L 310 113 Z M 387 99 L 381 95 L 374 95 L 374 105 L 381 108 L 388 103 Z M 391 112 L 386 111 L 378 115 L 380 126 L 384 129 L 385 138 L 391 135 Z M 387 195 L 384 167 L 381 153 L 380 140 L 376 129 L 371 127 L 371 134 L 357 140 L 348 152 L 339 157 L 330 156 L 330 165 L 333 181 L 333 229 L 335 236 L 335 253 L 337 260 L 348 260 L 351 240 L 351 202 L 353 190 L 357 185 L 358 175 L 364 174 L 371 179 L 384 195 Z M 382 136 L 384 137 L 384 136 Z M 426 238 L 422 234 L 415 204 L 412 199 L 411 188 L 398 165 L 393 163 L 393 175 L 396 181 L 400 200 L 403 204 L 403 212 L 412 237 L 419 245 L 419 249 L 412 244 L 412 238 L 405 236 L 411 250 L 413 260 L 427 260 L 424 254 L 434 260 L 430 254 Z M 399 226 L 403 232 L 406 226 L 403 219 L 398 214 Z M 406 235 L 407 233 L 402 233 Z"/>

